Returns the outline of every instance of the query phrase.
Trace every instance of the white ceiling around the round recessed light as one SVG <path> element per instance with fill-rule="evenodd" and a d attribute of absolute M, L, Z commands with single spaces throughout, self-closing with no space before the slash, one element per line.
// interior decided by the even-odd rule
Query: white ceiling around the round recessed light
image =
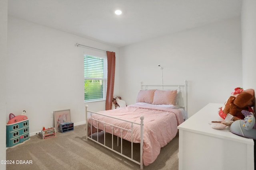
<path fill-rule="evenodd" d="M 242 0 L 8 0 L 8 15 L 122 47 L 238 17 L 241 6 Z"/>

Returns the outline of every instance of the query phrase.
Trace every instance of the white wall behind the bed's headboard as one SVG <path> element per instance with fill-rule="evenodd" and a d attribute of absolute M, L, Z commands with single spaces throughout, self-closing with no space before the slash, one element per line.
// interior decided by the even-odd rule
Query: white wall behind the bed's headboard
<path fill-rule="evenodd" d="M 240 18 L 212 23 L 120 48 L 120 92 L 136 102 L 140 82 L 188 80 L 189 117 L 206 104 L 223 103 L 242 86 Z M 217 114 L 217 113 L 216 113 Z"/>

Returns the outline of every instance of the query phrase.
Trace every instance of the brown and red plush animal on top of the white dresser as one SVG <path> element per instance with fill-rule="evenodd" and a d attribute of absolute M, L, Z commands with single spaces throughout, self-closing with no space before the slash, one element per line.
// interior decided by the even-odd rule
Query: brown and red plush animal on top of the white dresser
<path fill-rule="evenodd" d="M 240 88 L 242 89 L 242 88 Z M 232 92 L 232 96 L 226 100 L 224 106 L 220 108 L 219 115 L 223 119 L 226 118 L 226 115 L 230 113 L 234 116 L 234 121 L 239 119 L 244 119 L 242 110 L 253 112 L 252 106 L 254 106 L 254 90 L 238 90 L 235 88 L 235 93 Z"/>

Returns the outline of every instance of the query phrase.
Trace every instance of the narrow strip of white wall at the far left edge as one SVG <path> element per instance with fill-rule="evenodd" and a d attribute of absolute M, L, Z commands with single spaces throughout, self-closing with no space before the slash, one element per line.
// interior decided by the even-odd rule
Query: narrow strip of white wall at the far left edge
<path fill-rule="evenodd" d="M 0 160 L 6 160 L 6 59 L 7 59 L 7 0 L 0 1 Z M 0 164 L 6 170 L 5 164 Z"/>

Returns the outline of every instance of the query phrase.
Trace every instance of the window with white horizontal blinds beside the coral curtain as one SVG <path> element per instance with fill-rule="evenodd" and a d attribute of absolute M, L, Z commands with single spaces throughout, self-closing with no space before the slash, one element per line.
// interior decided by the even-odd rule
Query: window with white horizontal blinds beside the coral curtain
<path fill-rule="evenodd" d="M 84 101 L 106 100 L 107 58 L 84 55 Z"/>

